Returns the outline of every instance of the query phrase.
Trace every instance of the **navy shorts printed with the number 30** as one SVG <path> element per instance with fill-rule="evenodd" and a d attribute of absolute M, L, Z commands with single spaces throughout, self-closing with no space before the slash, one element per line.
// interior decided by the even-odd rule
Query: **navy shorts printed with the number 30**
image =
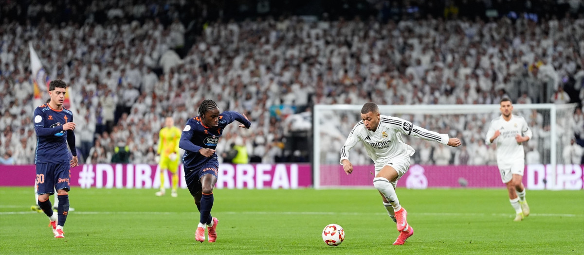
<path fill-rule="evenodd" d="M 56 190 L 69 191 L 71 165 L 69 161 L 55 161 L 36 164 L 37 194 L 54 194 Z"/>

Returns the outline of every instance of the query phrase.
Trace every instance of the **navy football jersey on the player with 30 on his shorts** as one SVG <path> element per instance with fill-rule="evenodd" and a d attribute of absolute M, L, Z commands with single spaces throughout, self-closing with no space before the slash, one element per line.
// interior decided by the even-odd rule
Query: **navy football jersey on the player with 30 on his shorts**
<path fill-rule="evenodd" d="M 33 123 L 37 135 L 34 164 L 71 160 L 67 149 L 67 136 L 72 136 L 69 140 L 75 136 L 72 130 L 63 130 L 62 125 L 72 121 L 73 113 L 65 108 L 55 110 L 44 104 L 34 109 Z"/>

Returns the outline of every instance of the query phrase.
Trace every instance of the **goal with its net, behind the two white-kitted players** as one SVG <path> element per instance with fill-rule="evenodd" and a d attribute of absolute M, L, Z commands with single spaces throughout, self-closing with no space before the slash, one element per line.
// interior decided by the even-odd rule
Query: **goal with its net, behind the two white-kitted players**
<path fill-rule="evenodd" d="M 361 120 L 361 107 L 315 105 L 312 154 L 315 188 L 371 187 L 373 161 L 367 157 L 362 144 L 349 152 L 354 167 L 351 175 L 346 175 L 339 165 L 340 148 L 350 130 Z M 489 124 L 500 115 L 499 105 L 379 105 L 379 108 L 383 115 L 396 116 L 463 141 L 463 146 L 455 148 L 402 135 L 416 153 L 411 157 L 407 179 L 406 175 L 402 176 L 398 187 L 504 186 L 496 167 L 495 145 L 484 143 Z M 569 145 L 574 134 L 576 104 L 514 104 L 513 108 L 513 114 L 523 116 L 533 132 L 533 137 L 524 143 L 526 165 L 538 164 L 544 168 L 539 171 L 536 167 L 526 167 L 524 182 L 531 181 L 531 186 L 541 189 L 554 189 L 556 166 L 564 163 L 563 148 Z M 572 172 L 568 168 L 566 171 Z"/>

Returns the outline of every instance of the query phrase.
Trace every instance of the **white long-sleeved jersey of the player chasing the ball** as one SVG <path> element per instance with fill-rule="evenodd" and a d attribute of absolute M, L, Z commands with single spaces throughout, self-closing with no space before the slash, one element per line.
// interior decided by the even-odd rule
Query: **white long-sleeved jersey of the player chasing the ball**
<path fill-rule="evenodd" d="M 404 143 L 402 134 L 442 144 L 448 144 L 449 140 L 448 134 L 429 131 L 397 117 L 381 115 L 375 132 L 368 130 L 363 121 L 353 127 L 345 145 L 340 149 L 339 162 L 342 165 L 343 160 L 349 160 L 349 151 L 359 141 L 363 142 L 367 155 L 376 165 L 384 164 L 395 157 L 411 156 L 416 151 Z"/>

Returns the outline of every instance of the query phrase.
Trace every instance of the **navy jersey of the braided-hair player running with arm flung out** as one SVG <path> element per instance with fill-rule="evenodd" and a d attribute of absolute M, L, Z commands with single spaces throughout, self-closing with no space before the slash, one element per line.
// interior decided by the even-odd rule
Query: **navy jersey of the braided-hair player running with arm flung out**
<path fill-rule="evenodd" d="M 215 150 L 219 137 L 223 134 L 225 126 L 231 122 L 238 121 L 249 128 L 251 122 L 244 117 L 244 115 L 235 111 L 224 111 L 219 115 L 219 124 L 217 127 L 209 128 L 203 125 L 201 117 L 196 116 L 186 122 L 185 129 L 180 136 L 179 147 L 185 150 L 183 155 L 183 162 L 185 169 L 191 169 L 206 164 L 211 160 L 217 160 L 217 154 L 214 153 L 211 157 L 205 157 L 199 153 L 201 148 L 211 148 Z"/>

